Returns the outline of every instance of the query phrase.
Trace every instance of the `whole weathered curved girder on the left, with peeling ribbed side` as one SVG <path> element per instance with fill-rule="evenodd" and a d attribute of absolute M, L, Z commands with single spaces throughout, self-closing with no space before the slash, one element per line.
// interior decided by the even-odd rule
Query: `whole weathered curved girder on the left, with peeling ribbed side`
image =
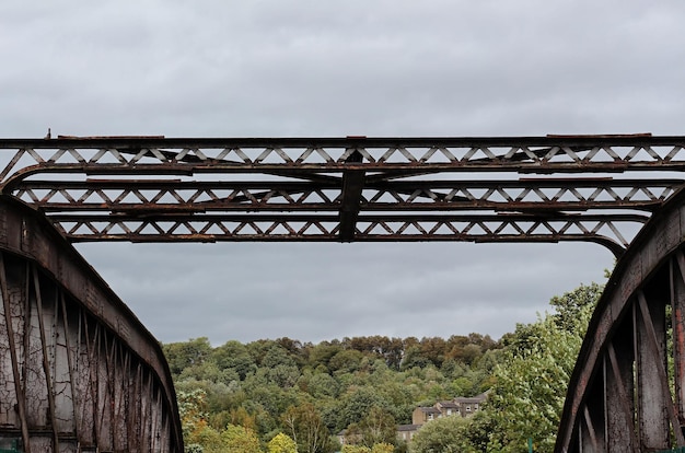
<path fill-rule="evenodd" d="M 0 438 L 182 452 L 159 344 L 42 216 L 0 197 Z"/>

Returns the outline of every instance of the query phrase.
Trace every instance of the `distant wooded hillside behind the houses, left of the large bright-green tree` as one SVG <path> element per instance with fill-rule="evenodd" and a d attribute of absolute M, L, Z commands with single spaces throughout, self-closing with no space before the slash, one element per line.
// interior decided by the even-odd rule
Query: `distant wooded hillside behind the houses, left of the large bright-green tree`
<path fill-rule="evenodd" d="M 313 453 L 339 450 L 335 434 L 342 430 L 360 448 L 395 444 L 395 426 L 410 423 L 417 405 L 489 388 L 500 346 L 471 334 L 219 347 L 196 338 L 163 348 L 187 445 L 211 440 L 220 449 L 228 427 L 240 426 L 256 433 L 264 449 L 282 433 L 299 452 Z"/>

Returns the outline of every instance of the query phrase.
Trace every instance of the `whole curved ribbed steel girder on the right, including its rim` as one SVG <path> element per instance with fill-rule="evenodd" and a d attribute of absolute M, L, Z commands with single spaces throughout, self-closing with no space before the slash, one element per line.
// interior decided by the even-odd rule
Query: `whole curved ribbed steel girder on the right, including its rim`
<path fill-rule="evenodd" d="M 557 452 L 685 446 L 685 191 L 606 284 L 571 375 Z"/>

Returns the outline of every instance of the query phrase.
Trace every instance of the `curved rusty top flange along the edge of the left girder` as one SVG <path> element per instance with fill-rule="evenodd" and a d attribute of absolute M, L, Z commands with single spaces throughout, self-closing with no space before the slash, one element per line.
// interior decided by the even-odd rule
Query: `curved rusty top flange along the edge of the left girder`
<path fill-rule="evenodd" d="M 0 195 L 0 249 L 37 264 L 154 371 L 173 411 L 171 442 L 183 449 L 176 393 L 162 347 L 93 267 L 43 214 L 4 195 Z"/>

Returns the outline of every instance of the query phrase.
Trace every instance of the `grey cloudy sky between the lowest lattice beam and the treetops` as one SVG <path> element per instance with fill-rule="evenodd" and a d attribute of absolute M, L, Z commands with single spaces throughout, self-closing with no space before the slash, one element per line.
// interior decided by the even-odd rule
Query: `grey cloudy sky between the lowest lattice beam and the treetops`
<path fill-rule="evenodd" d="M 581 245 L 580 259 L 588 263 L 580 267 L 572 249 L 578 247 L 79 246 L 153 333 L 174 340 L 208 336 L 213 342 L 279 336 L 317 341 L 376 333 L 449 337 L 480 332 L 497 338 L 515 323 L 534 321 L 536 312 L 549 309 L 553 295 L 603 279 L 611 254 Z"/>

